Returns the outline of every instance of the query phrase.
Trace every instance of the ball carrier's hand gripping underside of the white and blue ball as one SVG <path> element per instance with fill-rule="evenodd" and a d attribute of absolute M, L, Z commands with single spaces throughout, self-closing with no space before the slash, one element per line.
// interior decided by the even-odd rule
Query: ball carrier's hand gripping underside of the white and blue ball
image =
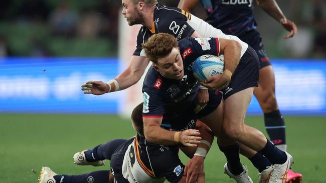
<path fill-rule="evenodd" d="M 200 82 L 202 86 L 209 89 L 222 89 L 230 82 L 230 78 L 224 73 L 216 74 L 208 77 L 204 82 Z"/>

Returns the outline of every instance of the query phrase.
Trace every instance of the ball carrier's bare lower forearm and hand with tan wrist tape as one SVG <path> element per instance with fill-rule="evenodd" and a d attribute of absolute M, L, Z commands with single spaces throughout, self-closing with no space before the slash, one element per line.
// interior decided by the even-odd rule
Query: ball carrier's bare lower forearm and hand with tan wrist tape
<path fill-rule="evenodd" d="M 184 131 L 169 131 L 160 127 L 162 118 L 145 118 L 144 135 L 147 141 L 161 145 L 172 145 L 182 143 L 186 146 L 197 146 L 202 139 L 200 132 L 195 129 Z"/>

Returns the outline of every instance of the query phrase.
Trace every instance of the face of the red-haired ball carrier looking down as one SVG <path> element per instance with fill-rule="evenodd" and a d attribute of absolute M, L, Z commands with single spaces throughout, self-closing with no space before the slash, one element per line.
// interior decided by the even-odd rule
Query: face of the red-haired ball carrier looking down
<path fill-rule="evenodd" d="M 163 76 L 181 80 L 184 77 L 184 63 L 179 47 L 174 47 L 169 55 L 157 60 L 156 70 Z"/>

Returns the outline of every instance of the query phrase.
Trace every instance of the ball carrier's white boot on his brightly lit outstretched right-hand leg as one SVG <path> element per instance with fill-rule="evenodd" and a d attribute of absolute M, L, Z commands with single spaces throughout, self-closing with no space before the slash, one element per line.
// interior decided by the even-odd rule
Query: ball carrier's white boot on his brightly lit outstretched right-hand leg
<path fill-rule="evenodd" d="M 270 182 L 286 183 L 287 173 L 293 164 L 293 157 L 291 154 L 285 152 L 287 159 L 283 164 L 273 164 L 274 170 L 271 173 Z"/>

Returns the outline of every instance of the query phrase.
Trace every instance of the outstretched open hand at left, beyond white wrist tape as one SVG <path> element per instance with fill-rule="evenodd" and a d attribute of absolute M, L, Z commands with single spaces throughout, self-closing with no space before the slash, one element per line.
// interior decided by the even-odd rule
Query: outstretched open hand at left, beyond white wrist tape
<path fill-rule="evenodd" d="M 89 80 L 86 84 L 81 85 L 81 89 L 86 94 L 104 94 L 109 91 L 109 85 L 101 80 Z"/>

